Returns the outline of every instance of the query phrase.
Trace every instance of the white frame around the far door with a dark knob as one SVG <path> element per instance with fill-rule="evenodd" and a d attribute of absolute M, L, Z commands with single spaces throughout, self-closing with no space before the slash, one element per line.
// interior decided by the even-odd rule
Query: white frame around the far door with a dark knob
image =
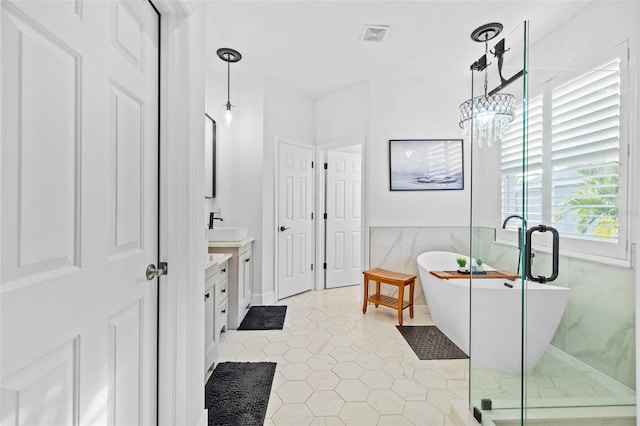
<path fill-rule="evenodd" d="M 279 200 L 280 200 L 280 144 L 281 143 L 286 143 L 288 145 L 293 145 L 293 146 L 297 146 L 300 148 L 306 148 L 309 149 L 311 151 L 311 161 L 314 164 L 313 170 L 311 171 L 311 179 L 313 179 L 313 181 L 311 182 L 311 190 L 312 190 L 312 194 L 311 194 L 311 211 L 313 212 L 313 220 L 315 223 L 319 222 L 318 219 L 318 212 L 316 211 L 316 194 L 317 194 L 317 190 L 316 190 L 316 183 L 317 183 L 317 176 L 316 176 L 316 172 L 314 172 L 314 170 L 319 170 L 319 162 L 316 161 L 317 155 L 316 155 L 316 150 L 315 150 L 315 146 L 311 145 L 311 144 L 307 144 L 307 143 L 303 143 L 303 142 L 298 142 L 294 139 L 288 139 L 288 138 L 281 138 L 276 136 L 275 137 L 275 158 L 274 158 L 274 183 L 273 183 L 273 194 L 274 194 L 274 215 L 273 215 L 273 283 L 274 283 L 274 294 L 275 294 L 275 300 L 278 301 L 280 300 L 280 282 L 279 282 L 279 278 L 280 278 L 280 271 L 279 271 L 279 265 L 280 265 L 280 252 L 279 252 L 279 239 L 278 239 L 278 227 L 279 227 L 279 213 L 280 213 L 280 206 L 279 206 Z M 316 251 L 316 241 L 317 241 L 317 232 L 316 232 L 316 226 L 315 224 L 313 225 L 313 230 L 311 232 L 311 248 L 312 250 L 314 250 L 314 253 L 312 253 L 311 255 L 311 259 L 313 261 L 313 268 L 314 268 L 314 273 L 312 274 L 312 278 L 313 278 L 313 283 L 311 283 L 311 290 L 316 290 L 316 286 L 318 283 L 317 280 L 317 275 L 316 275 L 316 271 L 318 271 L 320 268 L 318 267 L 318 263 L 316 262 L 317 260 L 317 251 Z"/>

